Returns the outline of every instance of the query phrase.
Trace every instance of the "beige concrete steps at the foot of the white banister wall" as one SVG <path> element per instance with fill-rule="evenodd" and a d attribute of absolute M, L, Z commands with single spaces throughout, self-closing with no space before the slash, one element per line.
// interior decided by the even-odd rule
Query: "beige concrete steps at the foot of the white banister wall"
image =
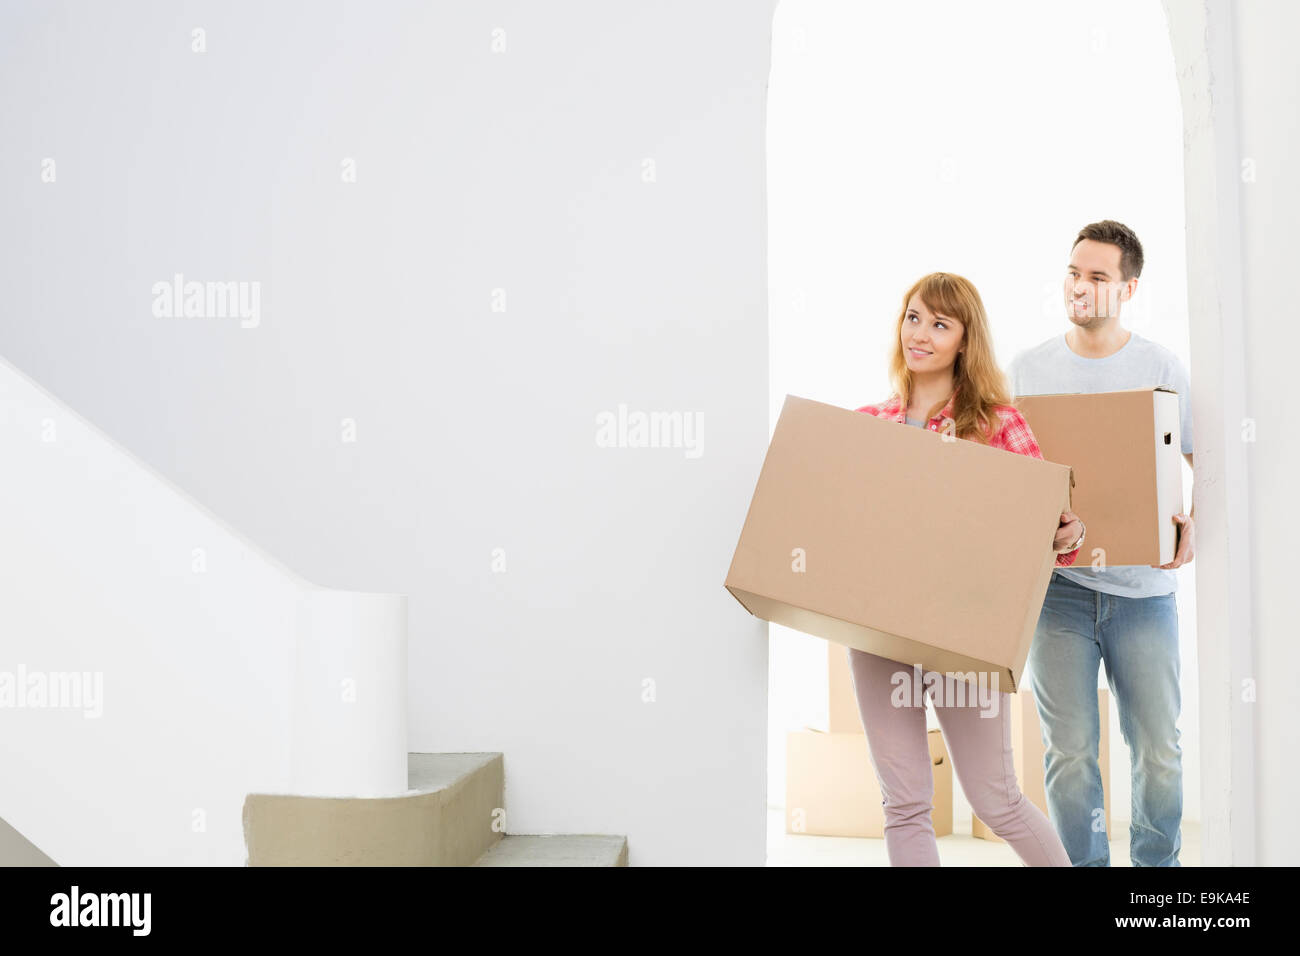
<path fill-rule="evenodd" d="M 627 866 L 603 834 L 504 832 L 499 753 L 412 753 L 393 797 L 251 793 L 250 866 Z"/>

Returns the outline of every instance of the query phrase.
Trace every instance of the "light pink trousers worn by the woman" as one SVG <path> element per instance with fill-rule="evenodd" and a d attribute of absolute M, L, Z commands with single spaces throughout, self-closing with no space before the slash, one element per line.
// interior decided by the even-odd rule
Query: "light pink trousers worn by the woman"
<path fill-rule="evenodd" d="M 884 799 L 885 851 L 890 866 L 939 866 L 939 844 L 930 813 L 935 797 L 930 747 L 926 741 L 926 698 L 939 717 L 948 756 L 971 809 L 1006 840 L 1028 866 L 1069 866 L 1052 822 L 1031 804 L 1015 782 L 1011 761 L 1009 695 L 1000 693 L 997 715 L 985 715 L 975 695 L 965 706 L 905 692 L 894 674 L 914 683 L 911 665 L 846 648 L 871 765 Z M 942 702 L 941 702 L 942 701 Z"/>

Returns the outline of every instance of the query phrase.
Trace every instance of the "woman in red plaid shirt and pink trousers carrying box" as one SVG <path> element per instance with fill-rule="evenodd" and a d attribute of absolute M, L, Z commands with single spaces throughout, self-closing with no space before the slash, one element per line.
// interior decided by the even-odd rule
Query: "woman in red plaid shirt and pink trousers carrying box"
<path fill-rule="evenodd" d="M 904 295 L 889 372 L 894 395 L 858 411 L 1043 458 L 1024 418 L 1010 405 L 1006 377 L 993 359 L 984 303 L 961 276 L 931 273 Z M 1083 533 L 1078 516 L 1062 512 L 1053 541 L 1057 566 L 1074 563 Z M 930 818 L 935 783 L 926 744 L 926 704 L 922 700 L 900 706 L 890 693 L 893 675 L 902 670 L 911 683 L 913 669 L 854 648 L 849 649 L 849 662 L 871 763 L 884 796 L 889 862 L 937 866 L 939 844 Z M 957 779 L 979 818 L 1027 865 L 1069 866 L 1070 857 L 1052 823 L 1017 786 L 1008 695 L 1002 695 L 996 717 L 983 715 L 978 701 L 968 706 L 939 700 L 932 704 Z"/>

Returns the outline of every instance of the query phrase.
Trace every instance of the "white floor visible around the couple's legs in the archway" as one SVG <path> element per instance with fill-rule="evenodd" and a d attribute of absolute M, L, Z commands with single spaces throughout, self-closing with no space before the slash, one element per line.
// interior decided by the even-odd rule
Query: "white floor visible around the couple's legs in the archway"
<path fill-rule="evenodd" d="M 1110 840 L 1110 865 L 1131 866 L 1128 860 L 1128 822 L 1114 821 L 1115 839 Z M 1183 822 L 1183 848 L 1178 855 L 1183 866 L 1201 865 L 1200 825 Z M 1019 866 L 1020 858 L 1005 843 L 989 843 L 971 836 L 967 819 L 953 822 L 953 834 L 939 838 L 939 860 L 944 866 Z M 885 842 L 857 836 L 809 836 L 785 832 L 785 809 L 770 806 L 767 812 L 768 866 L 888 866 Z"/>

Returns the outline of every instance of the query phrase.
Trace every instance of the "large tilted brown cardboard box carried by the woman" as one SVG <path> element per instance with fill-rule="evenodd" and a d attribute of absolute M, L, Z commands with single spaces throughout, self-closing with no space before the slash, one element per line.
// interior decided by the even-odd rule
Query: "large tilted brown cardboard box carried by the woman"
<path fill-rule="evenodd" d="M 1019 687 L 1070 468 L 786 395 L 725 587 L 763 620 Z"/>

